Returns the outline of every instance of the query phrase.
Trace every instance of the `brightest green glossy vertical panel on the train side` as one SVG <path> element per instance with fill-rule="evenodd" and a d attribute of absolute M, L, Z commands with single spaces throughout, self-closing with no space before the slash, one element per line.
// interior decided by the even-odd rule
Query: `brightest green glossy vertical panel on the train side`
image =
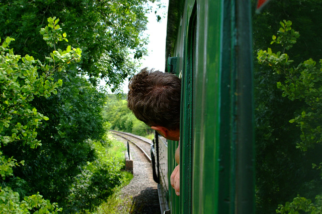
<path fill-rule="evenodd" d="M 192 213 L 218 213 L 221 2 L 197 2 Z"/>

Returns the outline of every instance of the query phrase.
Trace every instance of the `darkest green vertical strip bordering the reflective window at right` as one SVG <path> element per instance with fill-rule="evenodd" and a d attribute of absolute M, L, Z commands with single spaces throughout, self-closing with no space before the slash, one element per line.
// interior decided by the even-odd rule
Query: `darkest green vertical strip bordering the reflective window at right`
<path fill-rule="evenodd" d="M 236 1 L 236 177 L 237 213 L 255 213 L 255 146 L 250 1 Z"/>

